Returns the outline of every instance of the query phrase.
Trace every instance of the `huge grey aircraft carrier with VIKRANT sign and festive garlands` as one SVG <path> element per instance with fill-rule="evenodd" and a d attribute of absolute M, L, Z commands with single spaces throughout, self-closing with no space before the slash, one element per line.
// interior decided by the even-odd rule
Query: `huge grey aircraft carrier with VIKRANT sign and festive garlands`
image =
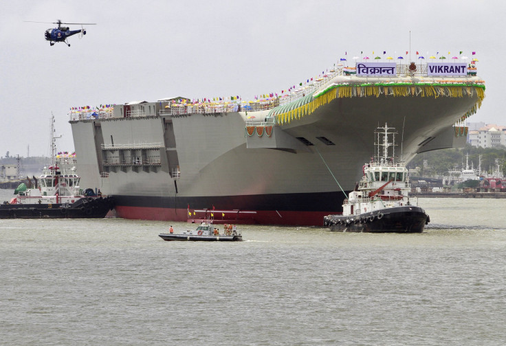
<path fill-rule="evenodd" d="M 338 65 L 248 102 L 73 107 L 77 170 L 83 186 L 114 196 L 120 218 L 321 226 L 360 181 L 379 124 L 397 128 L 395 154 L 408 162 L 463 146 L 464 121 L 485 97 L 471 65 L 447 76 L 384 65 Z"/>

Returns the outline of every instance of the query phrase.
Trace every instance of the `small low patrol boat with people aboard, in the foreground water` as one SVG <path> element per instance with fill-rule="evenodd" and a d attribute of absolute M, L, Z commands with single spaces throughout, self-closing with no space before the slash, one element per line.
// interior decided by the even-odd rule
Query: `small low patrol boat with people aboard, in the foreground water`
<path fill-rule="evenodd" d="M 172 231 L 172 226 L 170 226 Z M 188 231 L 184 233 L 161 233 L 158 235 L 163 240 L 192 240 L 192 241 L 208 241 L 208 242 L 242 242 L 243 236 L 234 230 L 225 230 L 223 234 L 219 233 L 216 227 L 212 224 L 202 222 L 195 231 Z"/>

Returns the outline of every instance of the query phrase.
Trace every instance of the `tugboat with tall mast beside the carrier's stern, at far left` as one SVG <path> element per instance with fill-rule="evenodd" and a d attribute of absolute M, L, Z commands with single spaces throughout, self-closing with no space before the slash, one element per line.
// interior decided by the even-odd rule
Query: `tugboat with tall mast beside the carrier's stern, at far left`
<path fill-rule="evenodd" d="M 52 117 L 52 134 L 54 133 Z M 112 196 L 101 196 L 93 189 L 79 187 L 74 154 L 56 154 L 52 135 L 52 164 L 39 178 L 28 178 L 14 190 L 10 202 L 0 205 L 0 218 L 104 218 L 113 208 Z M 100 191 L 100 190 L 99 190 Z"/>

